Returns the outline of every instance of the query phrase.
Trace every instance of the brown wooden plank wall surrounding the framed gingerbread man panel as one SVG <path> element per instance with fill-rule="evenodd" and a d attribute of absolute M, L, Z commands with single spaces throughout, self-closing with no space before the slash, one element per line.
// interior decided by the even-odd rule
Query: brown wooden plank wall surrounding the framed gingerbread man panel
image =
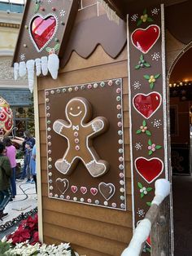
<path fill-rule="evenodd" d="M 118 256 L 132 237 L 132 197 L 129 150 L 129 101 L 128 101 L 127 49 L 116 60 L 111 59 L 101 46 L 88 60 L 73 52 L 59 78 L 38 79 L 41 142 L 41 188 L 44 242 L 72 243 L 79 254 L 87 256 Z M 47 196 L 46 115 L 44 90 L 111 78 L 123 78 L 124 148 L 127 188 L 127 211 L 76 204 L 50 199 Z"/>

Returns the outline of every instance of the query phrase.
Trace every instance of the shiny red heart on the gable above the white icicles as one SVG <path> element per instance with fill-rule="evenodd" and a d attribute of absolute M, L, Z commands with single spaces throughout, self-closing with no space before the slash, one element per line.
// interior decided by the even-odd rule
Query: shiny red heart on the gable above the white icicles
<path fill-rule="evenodd" d="M 29 34 L 37 51 L 42 51 L 54 38 L 56 29 L 57 19 L 54 15 L 37 14 L 33 18 L 29 26 Z"/>

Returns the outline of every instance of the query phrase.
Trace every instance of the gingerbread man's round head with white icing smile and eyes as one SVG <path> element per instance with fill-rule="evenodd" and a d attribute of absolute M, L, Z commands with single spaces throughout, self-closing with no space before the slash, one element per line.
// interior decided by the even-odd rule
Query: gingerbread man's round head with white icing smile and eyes
<path fill-rule="evenodd" d="M 86 103 L 85 99 L 73 98 L 66 106 L 66 116 L 69 121 L 83 121 L 87 115 L 89 116 L 89 104 Z"/>

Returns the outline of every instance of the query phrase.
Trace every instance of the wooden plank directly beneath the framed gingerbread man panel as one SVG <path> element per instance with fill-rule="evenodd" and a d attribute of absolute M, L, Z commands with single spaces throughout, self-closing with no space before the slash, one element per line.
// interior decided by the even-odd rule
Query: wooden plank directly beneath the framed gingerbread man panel
<path fill-rule="evenodd" d="M 106 223 L 114 223 L 122 227 L 132 227 L 132 213 L 122 210 L 104 209 L 90 205 L 77 204 L 70 201 L 59 201 L 47 197 L 47 185 L 42 183 L 43 209 L 57 210 L 63 214 L 72 214 L 81 218 L 94 219 Z M 127 196 L 128 201 L 131 196 Z M 107 211 L 107 218 L 105 216 Z"/>

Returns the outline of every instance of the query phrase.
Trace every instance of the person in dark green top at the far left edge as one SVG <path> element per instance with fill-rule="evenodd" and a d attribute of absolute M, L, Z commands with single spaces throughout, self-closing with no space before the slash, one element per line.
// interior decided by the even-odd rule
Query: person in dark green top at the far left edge
<path fill-rule="evenodd" d="M 8 213 L 3 213 L 6 205 L 11 199 L 11 184 L 12 175 L 11 164 L 8 157 L 3 155 L 5 149 L 4 143 L 0 142 L 0 219 L 6 217 Z"/>

